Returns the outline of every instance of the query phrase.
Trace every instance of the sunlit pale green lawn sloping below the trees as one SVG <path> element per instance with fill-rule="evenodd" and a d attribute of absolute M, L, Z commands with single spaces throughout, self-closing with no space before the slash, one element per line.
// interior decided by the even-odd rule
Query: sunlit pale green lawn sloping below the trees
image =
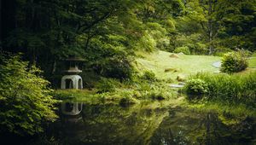
<path fill-rule="evenodd" d="M 207 55 L 178 55 L 171 57 L 172 53 L 156 51 L 150 54 L 137 53 L 142 58 L 137 58 L 135 65 L 140 73 L 152 71 L 157 78 L 175 80 L 177 75 L 184 77 L 198 72 L 217 72 L 218 68 L 212 67 L 212 63 L 220 61 L 218 56 Z"/>

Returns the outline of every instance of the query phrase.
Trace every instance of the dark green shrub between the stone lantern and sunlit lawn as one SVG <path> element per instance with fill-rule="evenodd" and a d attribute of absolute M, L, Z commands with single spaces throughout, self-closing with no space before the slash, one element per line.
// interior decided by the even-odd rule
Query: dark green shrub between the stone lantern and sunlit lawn
<path fill-rule="evenodd" d="M 114 43 L 114 41 L 113 41 Z M 104 78 L 118 78 L 120 80 L 131 78 L 133 67 L 131 66 L 131 54 L 123 48 L 105 44 L 93 39 L 86 51 L 86 67 Z"/>

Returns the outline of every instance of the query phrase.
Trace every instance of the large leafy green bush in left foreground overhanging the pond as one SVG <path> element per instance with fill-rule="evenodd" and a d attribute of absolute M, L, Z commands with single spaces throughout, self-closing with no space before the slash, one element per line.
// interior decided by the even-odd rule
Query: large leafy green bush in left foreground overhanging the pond
<path fill-rule="evenodd" d="M 43 131 L 42 124 L 56 118 L 49 82 L 20 55 L 1 55 L 0 62 L 0 133 L 25 136 Z"/>

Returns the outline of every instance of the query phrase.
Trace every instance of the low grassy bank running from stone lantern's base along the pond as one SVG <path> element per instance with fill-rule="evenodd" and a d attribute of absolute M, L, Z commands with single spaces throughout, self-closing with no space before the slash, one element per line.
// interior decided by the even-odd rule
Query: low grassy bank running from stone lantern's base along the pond
<path fill-rule="evenodd" d="M 115 83 L 116 84 L 116 83 Z M 87 102 L 90 104 L 113 103 L 127 106 L 140 102 L 170 101 L 176 100 L 179 95 L 175 90 L 171 90 L 165 81 L 137 79 L 133 82 L 123 82 L 120 86 L 115 86 L 109 91 L 94 90 L 55 90 L 53 96 L 64 101 Z M 104 86 L 104 84 L 102 84 Z M 105 86 L 104 86 L 105 87 Z M 110 86 L 106 86 L 110 87 Z M 177 102 L 177 101 L 175 101 Z"/>

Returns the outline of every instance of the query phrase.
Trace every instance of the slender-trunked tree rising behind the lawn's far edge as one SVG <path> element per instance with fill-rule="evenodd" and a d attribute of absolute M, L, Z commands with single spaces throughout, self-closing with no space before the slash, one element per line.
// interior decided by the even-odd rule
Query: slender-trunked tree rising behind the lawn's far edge
<path fill-rule="evenodd" d="M 199 33 L 204 38 L 203 41 L 208 46 L 208 54 L 214 52 L 213 41 L 220 29 L 219 21 L 221 17 L 216 14 L 219 10 L 220 0 L 189 0 L 185 5 L 187 9 L 186 17 L 200 26 Z M 191 22 L 189 22 L 191 23 Z M 201 32 L 200 32 L 201 31 Z"/>

